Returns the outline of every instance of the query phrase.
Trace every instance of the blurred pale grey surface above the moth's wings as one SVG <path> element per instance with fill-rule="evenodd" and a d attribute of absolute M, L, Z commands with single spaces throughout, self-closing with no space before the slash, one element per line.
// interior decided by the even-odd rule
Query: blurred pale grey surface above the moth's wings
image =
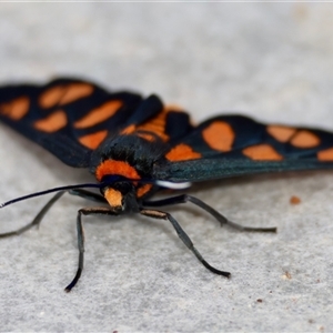
<path fill-rule="evenodd" d="M 312 124 L 332 103 L 331 4 L 2 3 L 0 14 L 4 83 L 85 77 L 154 91 L 196 119 L 302 111 Z"/>

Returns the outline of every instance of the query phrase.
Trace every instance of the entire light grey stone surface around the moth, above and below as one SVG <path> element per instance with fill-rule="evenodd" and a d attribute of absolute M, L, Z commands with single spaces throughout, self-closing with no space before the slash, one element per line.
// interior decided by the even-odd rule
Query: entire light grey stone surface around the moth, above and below
<path fill-rule="evenodd" d="M 0 81 L 83 77 L 157 92 L 196 121 L 235 110 L 333 130 L 332 30 L 332 3 L 0 3 Z M 89 179 L 2 124 L 0 142 L 1 201 Z M 240 233 L 190 205 L 170 209 L 231 280 L 206 271 L 167 222 L 87 218 L 85 270 L 70 294 L 75 212 L 90 203 L 65 196 L 39 231 L 0 240 L 0 331 L 332 332 L 332 172 L 194 186 L 234 221 L 279 228 Z M 1 210 L 0 231 L 47 200 Z"/>

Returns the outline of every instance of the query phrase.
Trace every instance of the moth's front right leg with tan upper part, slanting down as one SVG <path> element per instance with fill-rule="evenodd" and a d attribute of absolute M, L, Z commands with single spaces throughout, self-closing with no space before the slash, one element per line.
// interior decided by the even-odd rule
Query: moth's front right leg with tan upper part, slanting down
<path fill-rule="evenodd" d="M 185 233 L 185 231 L 181 228 L 181 225 L 176 222 L 176 220 L 169 213 L 162 212 L 162 211 L 157 211 L 157 210 L 150 210 L 150 209 L 141 209 L 140 213 L 142 215 L 153 218 L 153 219 L 159 219 L 159 220 L 168 220 L 171 222 L 172 226 L 174 228 L 178 236 L 183 241 L 183 243 L 194 253 L 194 255 L 198 258 L 198 260 L 211 272 L 223 275 L 225 278 L 230 278 L 229 272 L 220 271 L 213 266 L 211 266 L 200 254 L 200 252 L 194 248 L 194 244 L 192 243 L 191 239 L 189 235 Z"/>

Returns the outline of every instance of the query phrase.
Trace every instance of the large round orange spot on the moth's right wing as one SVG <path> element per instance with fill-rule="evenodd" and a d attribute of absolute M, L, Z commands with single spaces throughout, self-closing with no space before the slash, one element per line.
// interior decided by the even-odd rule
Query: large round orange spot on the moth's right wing
<path fill-rule="evenodd" d="M 218 151 L 230 151 L 235 138 L 231 125 L 224 121 L 214 121 L 202 131 L 205 143 Z"/>

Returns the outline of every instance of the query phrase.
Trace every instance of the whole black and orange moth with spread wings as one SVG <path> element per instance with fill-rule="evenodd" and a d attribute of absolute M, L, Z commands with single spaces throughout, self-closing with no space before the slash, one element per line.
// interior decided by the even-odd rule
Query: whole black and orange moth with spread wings
<path fill-rule="evenodd" d="M 155 94 L 110 92 L 79 79 L 1 87 L 0 120 L 63 163 L 88 169 L 97 179 L 95 183 L 59 186 L 1 204 L 56 193 L 31 223 L 0 235 L 6 238 L 39 224 L 65 192 L 95 202 L 78 211 L 79 263 L 67 292 L 83 270 L 82 215 L 138 213 L 167 220 L 208 270 L 229 278 L 229 272 L 203 259 L 179 222 L 160 208 L 191 202 L 221 224 L 239 230 L 274 232 L 275 228 L 242 226 L 189 194 L 151 200 L 154 193 L 245 174 L 333 169 L 333 133 L 327 131 L 263 124 L 239 114 L 222 114 L 194 125 L 185 111 L 164 105 Z"/>

